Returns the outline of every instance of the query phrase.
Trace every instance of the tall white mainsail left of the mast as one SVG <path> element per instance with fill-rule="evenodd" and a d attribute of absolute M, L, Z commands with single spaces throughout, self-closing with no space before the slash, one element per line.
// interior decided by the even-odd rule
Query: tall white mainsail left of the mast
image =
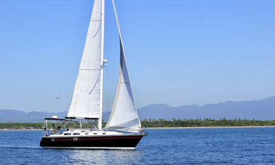
<path fill-rule="evenodd" d="M 95 0 L 78 76 L 68 111 L 69 118 L 99 118 L 102 1 Z"/>

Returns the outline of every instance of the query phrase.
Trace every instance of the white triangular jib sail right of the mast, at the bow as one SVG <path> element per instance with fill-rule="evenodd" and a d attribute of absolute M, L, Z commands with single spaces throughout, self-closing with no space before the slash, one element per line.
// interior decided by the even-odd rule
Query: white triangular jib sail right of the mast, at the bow
<path fill-rule="evenodd" d="M 120 72 L 117 93 L 113 104 L 111 117 L 109 118 L 105 128 L 139 132 L 141 130 L 141 122 L 139 116 L 137 115 L 136 106 L 134 103 L 121 41 L 120 44 Z"/>

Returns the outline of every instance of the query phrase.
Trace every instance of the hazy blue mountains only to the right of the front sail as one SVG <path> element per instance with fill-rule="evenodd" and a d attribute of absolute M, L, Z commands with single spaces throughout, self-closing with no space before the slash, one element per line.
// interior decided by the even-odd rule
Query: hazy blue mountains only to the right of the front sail
<path fill-rule="evenodd" d="M 218 104 L 168 106 L 147 105 L 139 109 L 141 120 L 148 119 L 275 119 L 275 96 L 255 101 L 226 101 Z"/>

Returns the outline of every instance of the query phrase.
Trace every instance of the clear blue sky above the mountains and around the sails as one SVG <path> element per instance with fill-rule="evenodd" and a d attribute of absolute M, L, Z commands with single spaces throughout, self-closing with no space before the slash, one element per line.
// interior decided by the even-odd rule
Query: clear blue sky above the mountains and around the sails
<path fill-rule="evenodd" d="M 67 111 L 92 5 L 0 1 L 0 109 Z M 275 1 L 117 0 L 116 6 L 137 107 L 275 95 Z M 109 0 L 105 30 L 109 111 L 119 63 Z"/>

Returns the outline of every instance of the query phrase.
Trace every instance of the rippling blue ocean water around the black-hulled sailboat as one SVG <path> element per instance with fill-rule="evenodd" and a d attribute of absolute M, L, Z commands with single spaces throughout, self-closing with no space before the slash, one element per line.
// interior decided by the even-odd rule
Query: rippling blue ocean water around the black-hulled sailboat
<path fill-rule="evenodd" d="M 0 164 L 275 164 L 275 128 L 148 129 L 135 150 L 43 149 L 42 131 L 0 131 Z"/>

